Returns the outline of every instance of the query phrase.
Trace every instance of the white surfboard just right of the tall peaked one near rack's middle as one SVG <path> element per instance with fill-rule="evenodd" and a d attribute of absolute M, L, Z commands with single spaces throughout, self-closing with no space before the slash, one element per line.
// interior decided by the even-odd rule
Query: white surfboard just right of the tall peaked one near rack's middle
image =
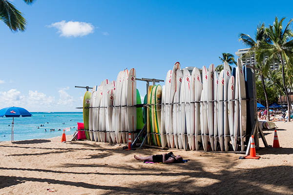
<path fill-rule="evenodd" d="M 180 92 L 181 92 L 181 86 L 182 86 L 182 81 L 183 81 L 183 71 L 178 69 L 176 71 L 176 92 L 177 92 L 177 104 L 174 104 L 173 106 L 176 107 L 176 120 L 177 120 L 177 127 L 176 127 L 176 132 L 177 135 L 175 134 L 175 142 L 177 140 L 178 142 L 178 148 L 183 149 L 183 144 L 182 144 L 182 138 L 181 138 L 181 131 L 180 131 Z M 174 125 L 173 125 L 174 126 Z M 177 137 L 177 139 L 176 139 Z"/>

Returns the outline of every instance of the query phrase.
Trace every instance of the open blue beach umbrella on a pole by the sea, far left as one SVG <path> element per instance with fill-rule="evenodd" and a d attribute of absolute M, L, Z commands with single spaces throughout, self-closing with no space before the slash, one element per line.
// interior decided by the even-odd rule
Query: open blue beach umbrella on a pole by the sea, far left
<path fill-rule="evenodd" d="M 12 127 L 11 127 L 11 142 L 13 141 L 13 127 L 14 127 L 14 117 L 31 117 L 32 114 L 20 107 L 7 107 L 0 110 L 0 117 L 12 117 Z"/>

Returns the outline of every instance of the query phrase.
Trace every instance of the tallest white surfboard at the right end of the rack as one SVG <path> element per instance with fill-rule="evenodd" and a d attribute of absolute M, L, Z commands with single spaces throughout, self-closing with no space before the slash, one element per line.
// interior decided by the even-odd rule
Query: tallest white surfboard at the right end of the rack
<path fill-rule="evenodd" d="M 244 138 L 246 136 L 246 88 L 245 79 L 243 75 L 243 66 L 241 60 L 238 58 L 238 86 L 239 86 L 239 112 L 240 112 L 240 140 L 241 140 L 241 151 L 244 151 Z"/>

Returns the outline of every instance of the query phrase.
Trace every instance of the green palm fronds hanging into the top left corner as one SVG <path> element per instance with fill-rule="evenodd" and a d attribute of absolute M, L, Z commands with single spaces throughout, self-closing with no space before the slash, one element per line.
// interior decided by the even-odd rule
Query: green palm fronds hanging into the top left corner
<path fill-rule="evenodd" d="M 26 4 L 30 5 L 34 0 L 23 0 Z M 0 20 L 2 20 L 11 31 L 24 31 L 26 20 L 23 18 L 22 13 L 9 1 L 0 0 Z"/>

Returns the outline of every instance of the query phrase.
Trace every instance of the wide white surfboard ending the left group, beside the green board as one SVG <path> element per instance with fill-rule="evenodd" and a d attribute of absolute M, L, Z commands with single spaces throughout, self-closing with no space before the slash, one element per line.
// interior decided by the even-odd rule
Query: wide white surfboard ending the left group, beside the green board
<path fill-rule="evenodd" d="M 127 122 L 128 132 L 131 133 L 131 141 L 136 137 L 136 72 L 131 68 L 127 83 Z"/>

